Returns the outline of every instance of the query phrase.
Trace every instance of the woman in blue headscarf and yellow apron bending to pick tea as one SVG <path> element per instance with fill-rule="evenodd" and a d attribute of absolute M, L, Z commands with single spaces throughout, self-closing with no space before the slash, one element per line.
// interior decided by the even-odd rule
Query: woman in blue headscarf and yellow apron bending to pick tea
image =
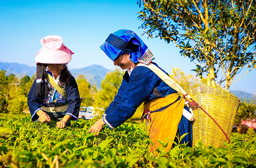
<path fill-rule="evenodd" d="M 188 146 L 191 146 L 191 122 L 182 115 L 184 109 L 189 111 L 184 107 L 184 99 L 147 67 L 150 63 L 156 67 L 158 65 L 152 62 L 155 57 L 140 37 L 131 30 L 118 30 L 110 34 L 100 48 L 114 61 L 114 65 L 127 71 L 114 101 L 89 132 L 100 132 L 105 124 L 110 129 L 115 129 L 131 118 L 144 102 L 143 116 L 149 123 L 148 133 L 154 144 L 150 151 L 153 152 L 157 146 L 161 146 L 157 139 L 174 140 L 175 135 L 184 133 L 189 134 L 182 142 L 188 142 Z M 143 64 L 146 66 L 140 66 Z M 165 150 L 172 148 L 171 141 L 164 141 L 169 142 Z"/>

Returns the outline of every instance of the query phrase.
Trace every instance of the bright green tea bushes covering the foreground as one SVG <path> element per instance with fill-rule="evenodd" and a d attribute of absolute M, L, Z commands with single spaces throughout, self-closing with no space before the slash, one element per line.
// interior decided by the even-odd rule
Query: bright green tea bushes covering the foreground
<path fill-rule="evenodd" d="M 145 125 L 104 126 L 99 136 L 88 133 L 94 121 L 72 121 L 55 128 L 30 116 L 0 116 L 0 167 L 256 167 L 256 135 L 233 133 L 227 148 L 205 147 L 201 142 L 177 144 L 159 154 L 149 153 Z M 164 144 L 163 144 L 164 145 Z"/>

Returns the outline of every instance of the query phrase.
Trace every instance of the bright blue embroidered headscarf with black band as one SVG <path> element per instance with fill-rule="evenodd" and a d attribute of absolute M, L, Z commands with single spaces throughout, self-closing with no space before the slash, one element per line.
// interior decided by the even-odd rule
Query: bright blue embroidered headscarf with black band
<path fill-rule="evenodd" d="M 129 53 L 133 63 L 148 65 L 155 59 L 148 46 L 131 30 L 121 29 L 110 34 L 100 49 L 113 61 L 122 53 Z"/>

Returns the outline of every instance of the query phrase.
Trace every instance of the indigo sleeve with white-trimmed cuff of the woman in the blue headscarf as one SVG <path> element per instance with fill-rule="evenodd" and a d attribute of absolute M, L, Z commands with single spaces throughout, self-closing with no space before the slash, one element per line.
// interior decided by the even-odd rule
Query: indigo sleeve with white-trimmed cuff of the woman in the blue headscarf
<path fill-rule="evenodd" d="M 124 87 L 119 88 L 121 89 L 120 92 L 118 90 L 120 95 L 117 95 L 119 101 L 115 103 L 116 108 L 113 110 L 114 105 L 110 107 L 113 111 L 103 116 L 103 121 L 111 129 L 115 129 L 131 118 L 140 104 L 147 100 L 159 80 L 161 79 L 146 67 L 134 68 L 129 77 L 129 82 L 124 84 Z"/>

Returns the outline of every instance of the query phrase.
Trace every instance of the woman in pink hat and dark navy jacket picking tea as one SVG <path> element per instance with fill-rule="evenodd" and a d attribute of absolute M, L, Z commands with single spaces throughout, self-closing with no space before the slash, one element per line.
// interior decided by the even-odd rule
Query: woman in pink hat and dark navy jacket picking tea
<path fill-rule="evenodd" d="M 81 103 L 76 80 L 66 66 L 74 52 L 60 36 L 46 36 L 41 44 L 35 58 L 36 80 L 28 93 L 31 119 L 41 123 L 53 119 L 58 121 L 56 127 L 64 128 L 70 120 L 77 121 Z"/>

